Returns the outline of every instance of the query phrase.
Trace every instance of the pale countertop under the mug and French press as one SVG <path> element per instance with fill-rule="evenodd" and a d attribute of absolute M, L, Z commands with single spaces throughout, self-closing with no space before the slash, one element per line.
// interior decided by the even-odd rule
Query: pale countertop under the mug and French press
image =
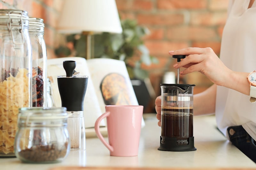
<path fill-rule="evenodd" d="M 184 168 L 256 168 L 256 164 L 233 146 L 217 130 L 214 116 L 194 117 L 196 151 L 158 151 L 161 128 L 155 114 L 144 114 L 139 154 L 135 157 L 109 156 L 98 138 L 86 138 L 85 151 L 70 151 L 55 164 L 26 164 L 17 158 L 0 158 L 1 170 L 49 170 L 60 166 L 90 167 L 184 167 Z"/>

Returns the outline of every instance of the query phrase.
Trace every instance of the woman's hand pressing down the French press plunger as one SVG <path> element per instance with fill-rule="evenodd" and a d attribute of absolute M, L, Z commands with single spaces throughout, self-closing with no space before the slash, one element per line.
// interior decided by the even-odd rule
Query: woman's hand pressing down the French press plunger
<path fill-rule="evenodd" d="M 188 47 L 176 51 L 169 51 L 170 55 L 186 55 L 174 68 L 185 67 L 181 75 L 199 71 L 208 77 L 213 83 L 223 86 L 227 76 L 232 72 L 226 67 L 212 48 Z"/>

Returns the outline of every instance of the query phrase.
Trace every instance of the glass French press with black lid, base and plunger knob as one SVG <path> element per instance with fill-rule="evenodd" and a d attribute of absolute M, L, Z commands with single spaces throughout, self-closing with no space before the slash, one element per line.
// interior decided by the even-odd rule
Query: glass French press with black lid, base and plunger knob
<path fill-rule="evenodd" d="M 172 58 L 185 58 L 173 55 Z M 161 84 L 161 136 L 160 151 L 195 151 L 193 136 L 193 89 L 194 84 Z"/>

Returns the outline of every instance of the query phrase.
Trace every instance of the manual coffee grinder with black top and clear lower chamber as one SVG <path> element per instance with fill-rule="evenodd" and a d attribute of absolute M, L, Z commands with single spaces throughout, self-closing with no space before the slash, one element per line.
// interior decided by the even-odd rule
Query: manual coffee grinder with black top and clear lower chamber
<path fill-rule="evenodd" d="M 78 75 L 76 61 L 63 61 L 65 75 L 57 77 L 61 107 L 66 107 L 69 114 L 67 129 L 71 151 L 85 150 L 84 96 L 88 76 Z"/>

